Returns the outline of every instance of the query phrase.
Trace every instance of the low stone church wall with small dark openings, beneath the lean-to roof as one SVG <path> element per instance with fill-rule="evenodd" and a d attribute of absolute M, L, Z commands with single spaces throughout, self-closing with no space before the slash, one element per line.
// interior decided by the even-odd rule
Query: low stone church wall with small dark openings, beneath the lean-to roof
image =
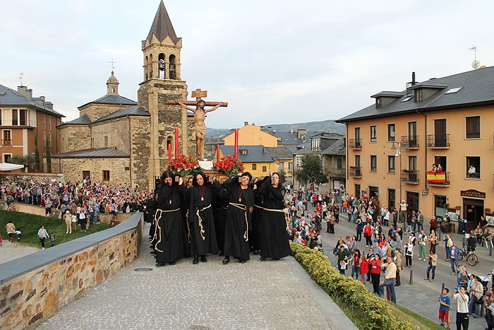
<path fill-rule="evenodd" d="M 89 171 L 93 182 L 102 182 L 103 170 L 109 170 L 109 184 L 131 182 L 129 158 L 63 158 L 61 164 L 66 181 L 81 181 L 83 171 Z"/>

